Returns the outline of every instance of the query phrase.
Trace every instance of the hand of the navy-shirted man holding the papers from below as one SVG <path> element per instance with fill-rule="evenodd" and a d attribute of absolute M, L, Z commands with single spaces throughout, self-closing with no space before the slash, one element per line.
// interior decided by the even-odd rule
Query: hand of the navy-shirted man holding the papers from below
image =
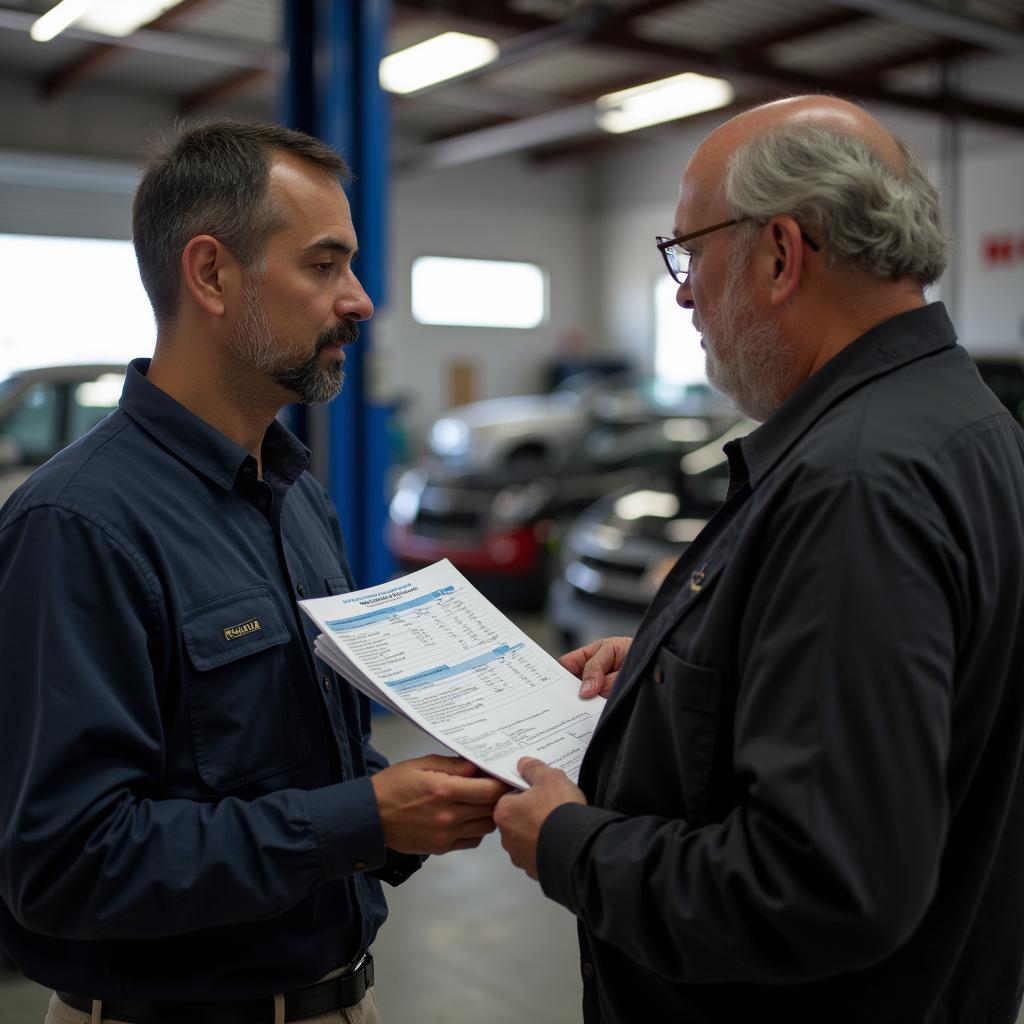
<path fill-rule="evenodd" d="M 447 853 L 479 846 L 495 830 L 495 803 L 510 786 L 476 775 L 462 758 L 431 754 L 372 776 L 384 842 L 399 853 Z"/>

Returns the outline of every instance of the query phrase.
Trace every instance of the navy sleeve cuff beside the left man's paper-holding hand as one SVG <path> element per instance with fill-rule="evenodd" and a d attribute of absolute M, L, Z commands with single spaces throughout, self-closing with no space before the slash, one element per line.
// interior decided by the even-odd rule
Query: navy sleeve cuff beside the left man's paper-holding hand
<path fill-rule="evenodd" d="M 326 882 L 384 864 L 384 827 L 369 777 L 312 790 L 309 807 Z"/>

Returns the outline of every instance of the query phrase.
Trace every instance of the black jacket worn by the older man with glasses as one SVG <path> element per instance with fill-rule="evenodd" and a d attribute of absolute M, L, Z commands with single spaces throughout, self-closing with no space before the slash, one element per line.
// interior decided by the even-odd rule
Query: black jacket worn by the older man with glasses
<path fill-rule="evenodd" d="M 1012 1022 L 1024 433 L 940 305 L 728 450 L 545 822 L 589 1022 Z"/>

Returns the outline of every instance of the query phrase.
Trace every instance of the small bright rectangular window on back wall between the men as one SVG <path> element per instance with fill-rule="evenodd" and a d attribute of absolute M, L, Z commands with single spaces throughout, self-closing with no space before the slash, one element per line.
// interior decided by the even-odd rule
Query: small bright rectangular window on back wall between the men
<path fill-rule="evenodd" d="M 547 285 L 536 263 L 421 256 L 413 262 L 413 318 L 527 330 L 547 317 Z"/>

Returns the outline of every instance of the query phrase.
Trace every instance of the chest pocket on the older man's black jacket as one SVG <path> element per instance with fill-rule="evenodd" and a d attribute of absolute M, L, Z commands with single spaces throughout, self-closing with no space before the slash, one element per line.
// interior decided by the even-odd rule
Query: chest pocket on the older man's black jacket
<path fill-rule="evenodd" d="M 631 814 L 708 819 L 708 791 L 719 732 L 718 670 L 665 647 L 638 681 L 635 703 L 609 784 L 612 807 Z"/>

